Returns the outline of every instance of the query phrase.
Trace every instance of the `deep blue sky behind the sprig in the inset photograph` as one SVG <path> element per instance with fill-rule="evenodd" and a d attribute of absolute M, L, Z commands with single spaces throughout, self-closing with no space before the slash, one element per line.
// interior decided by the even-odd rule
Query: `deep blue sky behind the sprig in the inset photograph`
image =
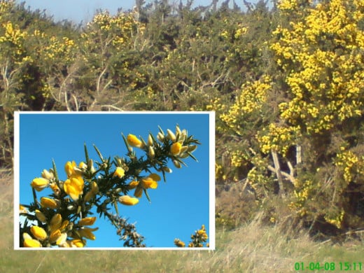
<path fill-rule="evenodd" d="M 185 160 L 188 167 L 181 169 L 176 169 L 169 162 L 173 172 L 167 174 L 167 183 L 160 181 L 157 189 L 148 190 L 151 203 L 143 195 L 135 206 L 119 204 L 119 213 L 129 218 L 129 223 L 136 223 L 137 232 L 146 237 L 145 243 L 149 247 L 174 247 L 176 237 L 188 243 L 190 235 L 202 224 L 206 225 L 210 235 L 214 215 L 209 214 L 209 208 L 214 207 L 214 196 L 211 202 L 209 193 L 214 194 L 214 178 L 209 172 L 211 167 L 214 169 L 214 158 L 211 158 L 214 144 L 209 139 L 211 128 L 207 112 L 20 113 L 20 203 L 33 201 L 30 183 L 34 178 L 41 177 L 43 169 L 52 167 L 52 159 L 57 165 L 59 179 L 64 180 L 64 164 L 67 161 L 75 160 L 78 164 L 85 160 L 84 143 L 90 158 L 94 160 L 98 160 L 98 157 L 92 144 L 99 148 L 104 157 L 125 156 L 127 150 L 121 132 L 125 136 L 131 133 L 147 139 L 149 132 L 153 135 L 158 133 L 158 125 L 166 132 L 168 128 L 174 131 L 177 123 L 181 129 L 188 130 L 189 135 L 193 134 L 195 139 L 201 141 L 202 145 L 193 153 L 199 162 L 188 158 Z M 48 193 L 49 189 L 37 193 L 38 199 Z M 99 227 L 94 232 L 97 239 L 87 240 L 87 246 L 123 246 L 123 241 L 118 241 L 116 229 L 108 221 L 98 218 L 92 227 Z M 211 231 L 214 232 L 214 228 Z"/>

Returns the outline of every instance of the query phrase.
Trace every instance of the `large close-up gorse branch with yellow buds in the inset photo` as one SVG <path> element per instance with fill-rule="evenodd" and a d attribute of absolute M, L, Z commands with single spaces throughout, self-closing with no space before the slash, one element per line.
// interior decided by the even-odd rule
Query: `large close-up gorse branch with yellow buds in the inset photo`
<path fill-rule="evenodd" d="M 98 230 L 90 226 L 97 225 L 97 218 L 102 216 L 115 226 L 124 246 L 145 246 L 144 237 L 137 233 L 135 225 L 119 216 L 118 203 L 137 205 L 143 193 L 151 201 L 148 190 L 158 188 L 158 181 L 162 178 L 165 181 L 165 173 L 172 172 L 167 166 L 169 160 L 176 168 L 185 165 L 183 159 L 196 160 L 193 151 L 200 142 L 178 125 L 176 132 L 167 129 L 165 133 L 160 128 L 157 136 L 149 134 L 146 141 L 134 134 L 123 135 L 123 139 L 128 151 L 125 158 L 104 158 L 94 146 L 100 160 L 94 162 L 85 146 L 85 162 L 78 165 L 66 162 L 66 180 L 59 179 L 53 162 L 52 169 L 44 169 L 42 177 L 31 181 L 34 202 L 20 205 L 20 215 L 25 217 L 20 223 L 20 246 L 86 246 L 87 239 L 96 239 L 93 232 Z M 134 148 L 144 151 L 146 157 L 138 158 Z M 37 192 L 48 187 L 52 194 L 38 199 Z M 131 190 L 134 197 L 130 196 Z M 99 217 L 90 216 L 93 208 Z"/>

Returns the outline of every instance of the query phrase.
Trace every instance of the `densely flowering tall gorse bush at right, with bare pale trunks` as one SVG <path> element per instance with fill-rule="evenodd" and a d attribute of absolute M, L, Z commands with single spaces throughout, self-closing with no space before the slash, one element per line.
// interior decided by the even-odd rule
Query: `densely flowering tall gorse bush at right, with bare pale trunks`
<path fill-rule="evenodd" d="M 278 7 L 269 45 L 276 66 L 243 85 L 220 116 L 241 140 L 230 162 L 258 200 L 281 195 L 311 230 L 363 228 L 363 3 Z"/>

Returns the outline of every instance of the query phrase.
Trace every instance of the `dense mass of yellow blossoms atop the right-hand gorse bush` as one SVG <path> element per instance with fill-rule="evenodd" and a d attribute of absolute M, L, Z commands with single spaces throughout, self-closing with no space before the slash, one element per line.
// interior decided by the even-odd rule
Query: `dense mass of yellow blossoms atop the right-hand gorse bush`
<path fill-rule="evenodd" d="M 278 39 L 271 48 L 287 73 L 291 94 L 290 101 L 279 106 L 281 118 L 293 125 L 303 123 L 308 133 L 363 115 L 364 12 L 359 2 L 318 3 L 300 22 L 274 31 Z M 283 10 L 299 5 L 298 0 L 279 3 Z"/>

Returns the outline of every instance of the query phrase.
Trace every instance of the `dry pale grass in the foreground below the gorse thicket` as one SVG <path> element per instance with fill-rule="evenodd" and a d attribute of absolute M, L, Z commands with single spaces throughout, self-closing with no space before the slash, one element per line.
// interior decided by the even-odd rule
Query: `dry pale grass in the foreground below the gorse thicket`
<path fill-rule="evenodd" d="M 295 262 L 363 262 L 363 245 L 320 244 L 306 234 L 290 239 L 259 216 L 218 231 L 216 251 L 14 251 L 13 177 L 0 175 L 0 272 L 294 272 Z"/>

